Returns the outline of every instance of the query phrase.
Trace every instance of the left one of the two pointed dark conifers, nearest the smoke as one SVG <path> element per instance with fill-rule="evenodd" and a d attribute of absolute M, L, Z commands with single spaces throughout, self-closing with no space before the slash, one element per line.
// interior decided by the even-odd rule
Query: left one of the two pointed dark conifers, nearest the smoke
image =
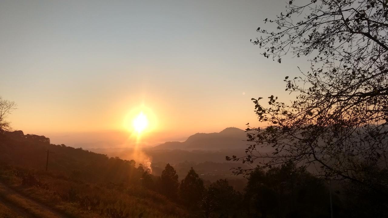
<path fill-rule="evenodd" d="M 178 197 L 178 175 L 174 168 L 167 164 L 160 176 L 161 192 L 171 199 Z"/>

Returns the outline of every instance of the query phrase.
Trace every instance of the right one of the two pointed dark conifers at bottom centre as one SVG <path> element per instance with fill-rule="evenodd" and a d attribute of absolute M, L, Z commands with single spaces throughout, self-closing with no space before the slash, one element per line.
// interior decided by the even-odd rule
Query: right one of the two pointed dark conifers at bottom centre
<path fill-rule="evenodd" d="M 179 186 L 179 196 L 182 203 L 190 209 L 197 208 L 199 201 L 202 199 L 203 191 L 203 180 L 191 168 Z"/>

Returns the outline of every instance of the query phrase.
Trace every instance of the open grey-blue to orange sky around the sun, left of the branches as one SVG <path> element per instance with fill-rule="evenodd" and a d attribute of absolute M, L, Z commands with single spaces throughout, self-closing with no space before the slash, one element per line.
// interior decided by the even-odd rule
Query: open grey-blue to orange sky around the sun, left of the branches
<path fill-rule="evenodd" d="M 287 102 L 284 77 L 307 64 L 291 57 L 279 64 L 249 42 L 259 26 L 275 27 L 263 19 L 284 6 L 283 0 L 3 0 L 0 95 L 18 105 L 9 121 L 57 144 L 125 135 L 128 116 L 139 110 L 148 111 L 148 137 L 158 142 L 260 125 L 250 99 L 275 95 Z"/>

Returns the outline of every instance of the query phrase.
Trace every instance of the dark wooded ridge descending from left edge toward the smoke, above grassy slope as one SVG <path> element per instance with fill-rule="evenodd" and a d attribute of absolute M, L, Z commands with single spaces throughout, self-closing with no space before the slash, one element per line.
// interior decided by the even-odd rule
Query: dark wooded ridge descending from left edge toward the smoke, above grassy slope
<path fill-rule="evenodd" d="M 0 132 L 0 161 L 3 163 L 43 170 L 47 150 L 54 152 L 49 155 L 49 170 L 67 175 L 79 172 L 79 178 L 89 182 L 138 182 L 142 176 L 128 160 L 64 144 L 50 144 L 47 137 L 24 135 L 23 131 Z"/>

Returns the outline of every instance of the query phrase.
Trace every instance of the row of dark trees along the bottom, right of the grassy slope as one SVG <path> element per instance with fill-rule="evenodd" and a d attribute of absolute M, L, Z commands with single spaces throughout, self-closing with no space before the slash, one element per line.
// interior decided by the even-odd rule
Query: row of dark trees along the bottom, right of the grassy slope
<path fill-rule="evenodd" d="M 147 171 L 144 172 L 146 180 Z M 255 170 L 247 176 L 243 193 L 236 192 L 228 180 L 220 179 L 205 187 L 193 168 L 180 182 L 174 168 L 167 164 L 155 183 L 144 183 L 171 201 L 179 202 L 191 211 L 201 211 L 204 217 L 328 217 L 330 195 L 323 180 L 304 167 L 292 163 L 268 171 Z M 151 180 L 150 180 L 151 181 Z M 333 194 L 335 214 L 340 198 Z"/>

